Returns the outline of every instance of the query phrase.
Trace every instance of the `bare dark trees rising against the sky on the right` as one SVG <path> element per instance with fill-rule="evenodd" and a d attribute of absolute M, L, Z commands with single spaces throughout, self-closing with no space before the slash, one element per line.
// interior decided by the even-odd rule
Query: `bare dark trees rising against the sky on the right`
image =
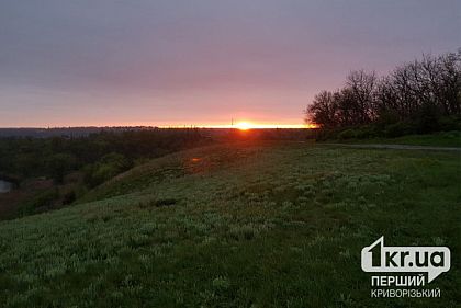
<path fill-rule="evenodd" d="M 351 71 L 341 89 L 316 94 L 305 114 L 306 122 L 327 130 L 361 127 L 368 134 L 405 135 L 459 129 L 461 48 L 423 55 L 383 77 Z"/>

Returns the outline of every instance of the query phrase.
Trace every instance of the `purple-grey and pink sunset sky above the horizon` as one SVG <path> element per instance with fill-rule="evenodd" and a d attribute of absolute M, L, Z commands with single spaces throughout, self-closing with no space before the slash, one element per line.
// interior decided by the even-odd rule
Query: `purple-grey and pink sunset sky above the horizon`
<path fill-rule="evenodd" d="M 302 124 L 460 28 L 459 0 L 0 0 L 0 126 Z"/>

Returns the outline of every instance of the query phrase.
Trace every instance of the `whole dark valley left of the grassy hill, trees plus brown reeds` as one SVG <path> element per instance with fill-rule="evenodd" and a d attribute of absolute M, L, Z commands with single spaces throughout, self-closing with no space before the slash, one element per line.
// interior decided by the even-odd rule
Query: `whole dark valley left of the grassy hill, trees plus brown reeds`
<path fill-rule="evenodd" d="M 193 128 L 0 138 L 0 179 L 15 183 L 18 191 L 12 198 L 0 198 L 0 209 L 5 205 L 13 208 L 0 210 L 0 220 L 71 204 L 148 159 L 211 142 L 204 132 Z"/>

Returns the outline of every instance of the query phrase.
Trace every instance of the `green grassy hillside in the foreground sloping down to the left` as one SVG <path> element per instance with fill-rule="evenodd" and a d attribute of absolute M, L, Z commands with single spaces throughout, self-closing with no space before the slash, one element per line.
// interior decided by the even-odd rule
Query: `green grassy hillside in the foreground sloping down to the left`
<path fill-rule="evenodd" d="M 1 307 L 459 307 L 461 158 L 229 144 L 0 223 Z M 448 246 L 441 297 L 370 298 L 360 251 Z"/>

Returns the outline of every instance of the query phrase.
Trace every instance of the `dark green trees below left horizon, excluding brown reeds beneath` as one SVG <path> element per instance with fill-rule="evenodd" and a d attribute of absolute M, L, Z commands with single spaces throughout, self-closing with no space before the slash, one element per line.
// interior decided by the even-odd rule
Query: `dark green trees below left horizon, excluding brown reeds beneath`
<path fill-rule="evenodd" d="M 82 170 L 89 186 L 130 169 L 136 161 L 210 144 L 198 129 L 102 132 L 85 137 L 0 138 L 0 171 L 19 181 L 46 176 L 60 184 Z"/>

